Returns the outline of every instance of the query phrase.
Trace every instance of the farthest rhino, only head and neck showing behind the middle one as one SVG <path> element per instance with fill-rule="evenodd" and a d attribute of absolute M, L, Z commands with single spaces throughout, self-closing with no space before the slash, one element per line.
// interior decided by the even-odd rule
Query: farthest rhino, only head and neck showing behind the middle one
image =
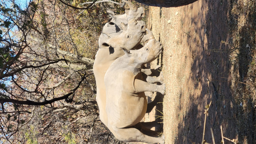
<path fill-rule="evenodd" d="M 107 10 L 107 13 L 112 18 L 110 22 L 106 23 L 102 28 L 100 37 L 99 37 L 99 46 L 102 43 L 107 42 L 111 37 L 120 35 L 123 32 L 121 22 L 125 25 L 128 24 L 128 17 L 134 18 L 135 20 L 141 20 L 145 16 L 145 10 L 143 7 L 137 8 L 134 4 L 129 1 L 123 1 L 127 3 L 130 7 L 130 10 L 126 10 L 122 15 L 115 15 L 113 11 Z"/>

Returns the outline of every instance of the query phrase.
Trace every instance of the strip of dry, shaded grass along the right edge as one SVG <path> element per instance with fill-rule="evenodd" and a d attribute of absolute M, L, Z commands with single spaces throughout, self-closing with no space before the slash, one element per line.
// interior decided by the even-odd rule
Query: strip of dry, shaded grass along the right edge
<path fill-rule="evenodd" d="M 239 141 L 255 143 L 256 98 L 256 2 L 252 0 L 231 1 L 230 10 L 230 62 L 237 109 Z M 239 83 L 240 82 L 240 83 Z M 254 123 L 253 123 L 254 122 Z M 244 131 L 241 131 L 244 130 Z"/>

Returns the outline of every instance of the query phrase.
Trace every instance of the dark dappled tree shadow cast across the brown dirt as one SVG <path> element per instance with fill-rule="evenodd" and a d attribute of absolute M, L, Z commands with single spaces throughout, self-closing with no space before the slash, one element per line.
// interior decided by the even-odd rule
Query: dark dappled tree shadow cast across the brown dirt
<path fill-rule="evenodd" d="M 199 5 L 199 6 L 198 6 Z M 209 116 L 206 119 L 205 140 L 212 143 L 210 128 L 213 130 L 215 142 L 221 142 L 220 125 L 223 127 L 225 137 L 237 138 L 237 113 L 239 106 L 236 105 L 235 97 L 232 96 L 231 64 L 229 62 L 229 28 L 228 12 L 230 2 L 197 1 L 184 7 L 183 22 L 189 24 L 189 29 L 182 29 L 181 38 L 187 40 L 194 63 L 191 67 L 192 75 L 189 81 L 194 83 L 195 92 L 190 95 L 189 106 L 180 106 L 180 112 L 188 108 L 183 115 L 183 122 L 178 126 L 179 134 L 175 143 L 202 142 L 204 129 L 204 107 L 212 101 Z M 186 13 L 192 10 L 193 13 Z M 183 44 L 184 45 L 184 44 Z M 246 54 L 245 54 L 246 55 Z M 248 54 L 247 54 L 248 55 Z M 247 56 L 246 55 L 246 56 Z M 246 64 L 243 59 L 238 60 L 241 68 L 241 77 L 246 73 Z M 240 62 L 241 61 L 241 62 Z M 248 68 L 247 68 L 248 69 Z M 182 69 L 180 69 L 182 71 Z M 180 92 L 180 100 L 184 93 Z M 240 108 L 241 110 L 241 108 Z M 248 127 L 244 130 L 247 131 Z M 248 142 L 252 139 L 247 138 Z M 191 141 L 190 141 L 191 140 Z M 230 141 L 225 140 L 225 143 Z"/>

